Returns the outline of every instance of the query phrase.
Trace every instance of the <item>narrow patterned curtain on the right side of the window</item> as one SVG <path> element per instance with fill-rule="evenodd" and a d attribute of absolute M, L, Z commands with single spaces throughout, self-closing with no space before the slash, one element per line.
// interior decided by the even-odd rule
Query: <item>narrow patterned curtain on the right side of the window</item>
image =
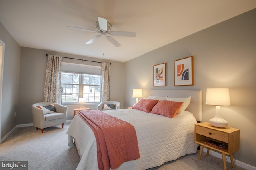
<path fill-rule="evenodd" d="M 101 84 L 100 84 L 100 102 L 110 100 L 110 63 L 102 63 Z"/>

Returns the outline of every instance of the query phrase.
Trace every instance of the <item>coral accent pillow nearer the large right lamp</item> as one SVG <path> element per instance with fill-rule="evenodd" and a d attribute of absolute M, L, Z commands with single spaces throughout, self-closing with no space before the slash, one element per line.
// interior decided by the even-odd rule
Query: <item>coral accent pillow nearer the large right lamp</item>
<path fill-rule="evenodd" d="M 183 102 L 174 102 L 168 100 L 159 100 L 150 113 L 173 118 L 176 116 Z"/>

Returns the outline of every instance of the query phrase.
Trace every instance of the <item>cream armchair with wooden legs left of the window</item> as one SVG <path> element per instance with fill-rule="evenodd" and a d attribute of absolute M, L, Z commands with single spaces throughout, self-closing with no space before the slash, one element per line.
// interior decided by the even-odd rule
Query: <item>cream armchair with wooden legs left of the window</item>
<path fill-rule="evenodd" d="M 40 109 L 36 106 L 47 106 L 53 104 L 56 112 L 55 113 L 47 113 L 45 109 Z M 40 102 L 35 103 L 32 106 L 32 114 L 33 114 L 33 125 L 36 129 L 40 128 L 41 133 L 44 133 L 44 128 L 51 127 L 55 125 L 62 124 L 62 128 L 64 123 L 66 123 L 66 115 L 68 107 L 63 106 L 61 104 L 52 103 L 52 102 Z"/>

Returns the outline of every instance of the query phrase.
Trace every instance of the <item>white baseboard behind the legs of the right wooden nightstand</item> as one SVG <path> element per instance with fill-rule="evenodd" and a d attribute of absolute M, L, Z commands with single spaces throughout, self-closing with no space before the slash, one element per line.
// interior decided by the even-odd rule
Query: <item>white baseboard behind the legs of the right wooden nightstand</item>
<path fill-rule="evenodd" d="M 204 151 L 204 152 L 207 152 L 207 149 L 204 148 L 203 151 Z M 218 153 L 218 152 L 215 152 L 214 150 L 210 150 L 210 151 L 209 151 L 209 154 L 212 155 L 212 156 L 215 156 L 215 157 L 217 157 L 217 158 L 222 159 L 222 154 L 220 154 L 220 153 Z M 252 166 L 252 165 L 246 164 L 246 163 L 244 163 L 244 162 L 241 162 L 241 161 L 239 161 L 239 160 L 236 160 L 236 159 L 234 159 L 234 157 L 233 157 L 233 160 L 234 160 L 235 166 L 240 166 L 241 168 L 244 168 L 244 169 L 246 169 L 246 170 L 256 170 L 256 167 L 255 167 L 255 166 Z M 231 163 L 229 156 L 226 156 L 226 161 Z"/>

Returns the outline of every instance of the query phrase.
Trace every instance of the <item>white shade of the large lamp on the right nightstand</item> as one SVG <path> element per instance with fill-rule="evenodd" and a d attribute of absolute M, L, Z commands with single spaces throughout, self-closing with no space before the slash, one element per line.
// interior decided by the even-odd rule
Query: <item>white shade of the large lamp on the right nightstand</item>
<path fill-rule="evenodd" d="M 205 104 L 216 106 L 230 106 L 228 88 L 208 88 L 206 89 Z"/>

